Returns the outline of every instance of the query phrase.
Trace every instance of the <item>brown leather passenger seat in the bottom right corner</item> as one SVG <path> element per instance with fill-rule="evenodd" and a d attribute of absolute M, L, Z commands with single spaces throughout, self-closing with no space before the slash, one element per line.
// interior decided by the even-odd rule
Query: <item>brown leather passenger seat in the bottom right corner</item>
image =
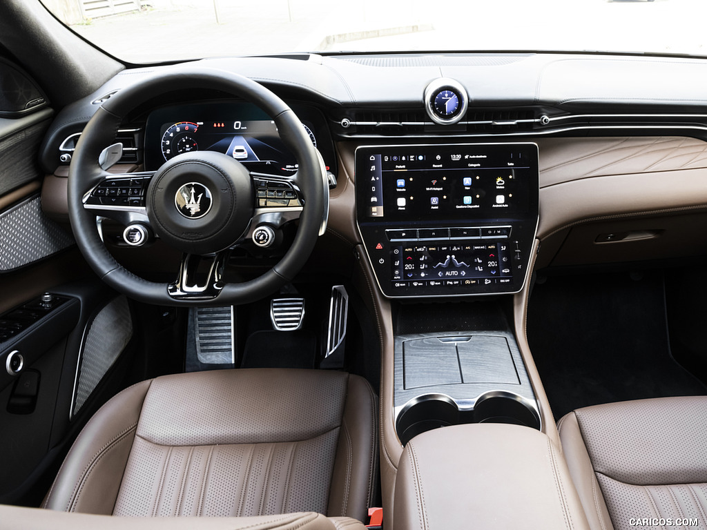
<path fill-rule="evenodd" d="M 707 524 L 707 396 L 580 408 L 558 430 L 592 529 Z"/>

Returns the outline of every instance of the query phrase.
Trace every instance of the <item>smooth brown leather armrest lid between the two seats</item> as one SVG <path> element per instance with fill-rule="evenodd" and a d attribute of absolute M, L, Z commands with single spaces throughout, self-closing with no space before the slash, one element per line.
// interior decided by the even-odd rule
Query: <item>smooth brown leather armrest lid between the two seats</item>
<path fill-rule="evenodd" d="M 547 435 L 472 424 L 414 437 L 400 459 L 394 530 L 588 529 L 567 464 Z"/>

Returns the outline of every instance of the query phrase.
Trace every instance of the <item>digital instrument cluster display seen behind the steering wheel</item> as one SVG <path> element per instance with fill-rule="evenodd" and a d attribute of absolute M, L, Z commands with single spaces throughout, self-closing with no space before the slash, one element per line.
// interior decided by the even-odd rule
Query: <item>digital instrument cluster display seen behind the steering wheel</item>
<path fill-rule="evenodd" d="M 324 118 L 312 107 L 293 106 L 312 144 L 333 171 L 334 148 Z M 298 163 L 280 139 L 274 120 L 247 102 L 201 102 L 153 111 L 146 124 L 146 169 L 156 170 L 181 153 L 217 151 L 251 172 L 291 177 Z"/>

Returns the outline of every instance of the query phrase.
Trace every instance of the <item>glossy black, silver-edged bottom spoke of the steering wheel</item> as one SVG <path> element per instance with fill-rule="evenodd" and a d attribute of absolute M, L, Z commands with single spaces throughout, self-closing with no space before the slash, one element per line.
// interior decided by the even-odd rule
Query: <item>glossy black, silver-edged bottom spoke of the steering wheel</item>
<path fill-rule="evenodd" d="M 223 289 L 223 269 L 230 250 L 223 250 L 210 256 L 183 254 L 177 281 L 167 286 L 167 292 L 175 300 L 210 300 L 216 298 Z M 208 262 L 206 278 L 199 281 L 199 265 Z"/>

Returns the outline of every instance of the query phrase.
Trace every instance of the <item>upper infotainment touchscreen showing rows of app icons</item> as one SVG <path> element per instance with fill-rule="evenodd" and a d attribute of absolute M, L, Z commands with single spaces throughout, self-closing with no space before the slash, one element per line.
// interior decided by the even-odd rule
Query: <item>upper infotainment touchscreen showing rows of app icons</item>
<path fill-rule="evenodd" d="M 382 220 L 506 218 L 528 213 L 537 151 L 526 144 L 397 146 L 357 153 L 359 215 Z"/>

